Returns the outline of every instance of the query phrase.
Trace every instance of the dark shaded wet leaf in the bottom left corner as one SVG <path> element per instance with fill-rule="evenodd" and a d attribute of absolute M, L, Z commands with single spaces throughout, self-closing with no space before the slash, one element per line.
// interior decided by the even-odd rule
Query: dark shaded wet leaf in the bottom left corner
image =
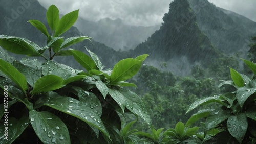
<path fill-rule="evenodd" d="M 21 119 L 16 119 L 14 117 L 8 117 L 8 126 L 5 126 L 4 123 L 0 125 L 0 143 L 12 143 L 14 142 L 22 133 L 23 131 L 28 127 L 29 124 L 29 118 L 23 117 Z M 8 127 L 8 134 L 4 132 L 6 130 L 6 127 Z M 8 137 L 5 139 L 5 137 Z"/>

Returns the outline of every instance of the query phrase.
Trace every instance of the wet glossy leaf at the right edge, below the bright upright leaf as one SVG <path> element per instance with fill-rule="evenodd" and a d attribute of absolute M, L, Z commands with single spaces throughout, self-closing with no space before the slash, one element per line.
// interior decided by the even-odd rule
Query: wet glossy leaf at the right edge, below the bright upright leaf
<path fill-rule="evenodd" d="M 254 93 L 256 92 L 256 82 L 251 81 L 244 87 L 240 87 L 237 90 L 237 100 L 241 108 L 243 108 L 245 101 Z"/>

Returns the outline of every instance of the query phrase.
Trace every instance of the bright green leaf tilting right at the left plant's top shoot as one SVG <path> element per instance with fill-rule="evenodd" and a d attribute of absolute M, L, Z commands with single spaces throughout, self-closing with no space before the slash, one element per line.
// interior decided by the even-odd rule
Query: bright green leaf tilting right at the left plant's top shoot
<path fill-rule="evenodd" d="M 74 25 L 74 23 L 76 22 L 76 20 L 78 18 L 78 11 L 79 10 L 72 11 L 72 12 L 64 15 L 59 20 L 59 24 L 56 28 L 54 37 L 60 36 L 61 34 L 66 32 L 67 30 L 69 30 Z"/>

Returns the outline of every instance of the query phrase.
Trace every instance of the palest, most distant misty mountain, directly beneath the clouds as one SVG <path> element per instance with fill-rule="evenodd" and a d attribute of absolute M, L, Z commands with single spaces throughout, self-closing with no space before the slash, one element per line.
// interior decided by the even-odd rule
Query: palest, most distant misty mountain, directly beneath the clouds
<path fill-rule="evenodd" d="M 114 50 L 134 49 L 138 44 L 145 41 L 151 34 L 159 29 L 160 25 L 142 27 L 125 25 L 121 19 L 100 19 L 97 22 L 78 18 L 75 26 L 83 34 L 94 40 L 104 43 Z"/>

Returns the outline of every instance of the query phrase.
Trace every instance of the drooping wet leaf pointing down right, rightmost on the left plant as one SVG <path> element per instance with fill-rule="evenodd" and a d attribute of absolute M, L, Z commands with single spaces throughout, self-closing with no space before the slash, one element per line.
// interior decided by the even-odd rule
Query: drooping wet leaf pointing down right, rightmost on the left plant
<path fill-rule="evenodd" d="M 125 98 L 126 108 L 146 121 L 148 125 L 150 125 L 150 115 L 148 115 L 146 112 L 145 105 L 143 104 L 143 101 L 140 99 L 140 97 L 136 93 L 122 88 L 119 89 L 119 92 L 122 93 Z"/>

